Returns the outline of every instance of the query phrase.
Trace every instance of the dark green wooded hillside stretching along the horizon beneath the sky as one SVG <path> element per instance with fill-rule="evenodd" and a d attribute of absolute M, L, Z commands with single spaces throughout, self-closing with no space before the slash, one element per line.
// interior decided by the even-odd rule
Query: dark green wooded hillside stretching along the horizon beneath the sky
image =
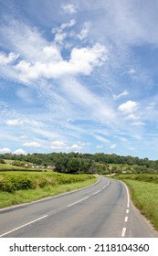
<path fill-rule="evenodd" d="M 131 155 L 122 156 L 115 154 L 82 154 L 82 153 L 50 153 L 50 154 L 28 154 L 12 155 L 1 154 L 0 161 L 10 159 L 24 161 L 35 165 L 54 165 L 55 170 L 62 173 L 157 173 L 158 160 L 140 159 Z M 115 164 L 114 166 L 112 166 Z M 116 165 L 117 164 L 117 165 Z M 134 166 L 134 167 L 133 167 Z"/>

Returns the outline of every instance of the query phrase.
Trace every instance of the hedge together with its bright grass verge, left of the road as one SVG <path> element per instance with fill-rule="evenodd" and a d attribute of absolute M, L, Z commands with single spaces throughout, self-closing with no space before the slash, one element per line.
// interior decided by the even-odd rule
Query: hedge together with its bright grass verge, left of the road
<path fill-rule="evenodd" d="M 0 208 L 52 197 L 86 187 L 97 181 L 92 175 L 66 175 L 55 172 L 1 172 Z"/>

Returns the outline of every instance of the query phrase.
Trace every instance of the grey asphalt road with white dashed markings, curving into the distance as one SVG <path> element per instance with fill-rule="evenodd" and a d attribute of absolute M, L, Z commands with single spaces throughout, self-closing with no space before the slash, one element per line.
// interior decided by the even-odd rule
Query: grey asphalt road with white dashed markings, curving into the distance
<path fill-rule="evenodd" d="M 153 238 L 158 232 L 132 205 L 127 187 L 100 176 L 58 197 L 0 210 L 1 238 Z"/>

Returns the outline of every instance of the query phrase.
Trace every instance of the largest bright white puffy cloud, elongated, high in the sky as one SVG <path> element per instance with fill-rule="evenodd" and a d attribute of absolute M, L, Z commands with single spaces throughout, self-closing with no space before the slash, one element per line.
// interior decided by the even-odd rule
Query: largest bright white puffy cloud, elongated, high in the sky
<path fill-rule="evenodd" d="M 21 60 L 15 67 L 19 79 L 29 81 L 40 78 L 57 79 L 64 75 L 90 75 L 94 67 L 101 66 L 108 58 L 108 49 L 99 43 L 92 48 L 73 48 L 68 61 L 61 58 L 57 46 L 51 46 L 47 50 L 45 48 L 46 54 L 50 51 L 52 58 L 50 59 L 50 56 L 48 56 L 45 61 L 43 59 L 46 56 L 33 64 Z"/>

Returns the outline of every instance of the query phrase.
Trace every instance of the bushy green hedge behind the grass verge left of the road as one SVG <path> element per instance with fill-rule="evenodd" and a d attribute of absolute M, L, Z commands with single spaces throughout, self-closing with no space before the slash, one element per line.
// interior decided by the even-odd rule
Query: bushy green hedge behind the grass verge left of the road
<path fill-rule="evenodd" d="M 91 175 L 66 175 L 57 173 L 0 173 L 0 191 L 13 193 L 16 190 L 38 189 L 47 186 L 75 183 L 93 178 Z"/>

